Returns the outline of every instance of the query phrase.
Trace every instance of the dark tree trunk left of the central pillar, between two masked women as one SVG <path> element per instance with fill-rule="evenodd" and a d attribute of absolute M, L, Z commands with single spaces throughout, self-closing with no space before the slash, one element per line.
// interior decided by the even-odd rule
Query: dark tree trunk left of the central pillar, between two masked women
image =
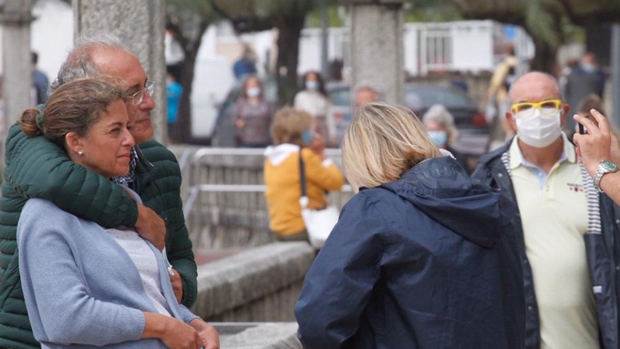
<path fill-rule="evenodd" d="M 304 28 L 306 13 L 289 21 L 278 23 L 278 62 L 276 81 L 280 105 L 292 105 L 297 92 L 297 66 L 299 63 L 299 40 Z"/>

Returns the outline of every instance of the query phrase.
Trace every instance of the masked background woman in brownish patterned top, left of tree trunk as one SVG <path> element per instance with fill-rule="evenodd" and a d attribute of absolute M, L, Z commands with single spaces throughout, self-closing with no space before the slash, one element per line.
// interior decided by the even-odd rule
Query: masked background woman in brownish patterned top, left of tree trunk
<path fill-rule="evenodd" d="M 263 92 L 262 82 L 256 75 L 245 79 L 234 110 L 239 146 L 265 148 L 271 144 L 269 126 L 275 109 L 265 100 Z"/>

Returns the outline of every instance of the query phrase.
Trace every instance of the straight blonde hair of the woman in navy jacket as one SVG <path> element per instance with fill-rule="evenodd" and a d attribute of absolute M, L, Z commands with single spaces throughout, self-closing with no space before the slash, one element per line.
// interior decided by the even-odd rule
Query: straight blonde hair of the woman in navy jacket
<path fill-rule="evenodd" d="M 396 181 L 440 150 L 411 110 L 369 103 L 355 113 L 342 140 L 342 164 L 351 186 L 374 188 Z"/>

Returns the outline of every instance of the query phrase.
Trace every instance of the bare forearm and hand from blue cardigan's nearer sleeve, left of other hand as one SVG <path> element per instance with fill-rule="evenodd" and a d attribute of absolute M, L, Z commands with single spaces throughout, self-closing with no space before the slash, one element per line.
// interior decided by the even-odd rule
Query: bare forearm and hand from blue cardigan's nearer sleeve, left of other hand
<path fill-rule="evenodd" d="M 144 312 L 145 328 L 142 338 L 158 338 L 170 349 L 199 349 L 203 347 L 203 339 L 198 331 L 165 315 Z"/>

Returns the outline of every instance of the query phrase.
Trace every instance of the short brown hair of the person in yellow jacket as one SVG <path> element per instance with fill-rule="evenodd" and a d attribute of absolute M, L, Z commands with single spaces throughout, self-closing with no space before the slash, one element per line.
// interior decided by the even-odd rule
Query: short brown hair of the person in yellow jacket
<path fill-rule="evenodd" d="M 278 110 L 271 123 L 271 139 L 276 146 L 292 143 L 305 146 L 302 133 L 312 125 L 312 116 L 303 110 L 286 107 Z"/>

